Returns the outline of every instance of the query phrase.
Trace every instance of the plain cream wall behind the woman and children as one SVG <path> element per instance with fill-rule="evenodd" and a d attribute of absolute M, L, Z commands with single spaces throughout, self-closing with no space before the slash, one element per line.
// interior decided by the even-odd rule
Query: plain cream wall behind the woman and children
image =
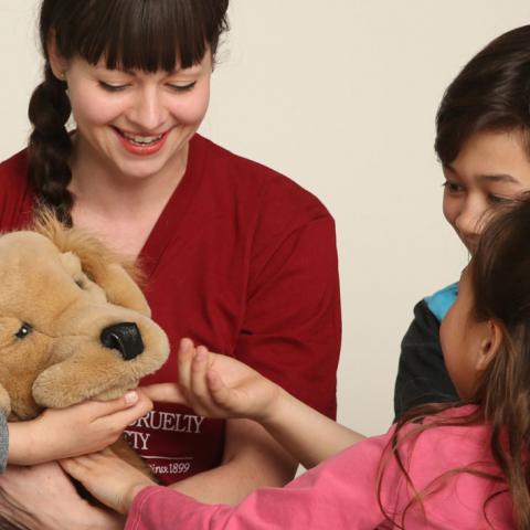
<path fill-rule="evenodd" d="M 0 159 L 29 134 L 36 0 L 0 0 Z M 434 116 L 458 70 L 530 22 L 528 0 L 232 0 L 202 132 L 289 176 L 337 221 L 339 420 L 392 420 L 400 341 L 467 256 L 441 212 Z"/>

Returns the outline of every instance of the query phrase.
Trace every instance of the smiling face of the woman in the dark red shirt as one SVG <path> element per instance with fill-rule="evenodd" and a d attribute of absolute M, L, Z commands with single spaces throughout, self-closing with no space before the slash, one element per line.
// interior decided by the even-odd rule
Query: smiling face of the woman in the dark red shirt
<path fill-rule="evenodd" d="M 172 73 L 107 70 L 103 61 L 91 65 L 81 57 L 55 64 L 54 72 L 61 67 L 77 125 L 78 159 L 134 179 L 186 167 L 188 141 L 208 108 L 210 53 Z"/>

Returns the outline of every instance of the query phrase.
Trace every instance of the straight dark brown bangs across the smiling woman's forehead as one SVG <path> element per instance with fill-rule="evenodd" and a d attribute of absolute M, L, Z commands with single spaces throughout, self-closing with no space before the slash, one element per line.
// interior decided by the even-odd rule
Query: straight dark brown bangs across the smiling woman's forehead
<path fill-rule="evenodd" d="M 57 49 L 110 70 L 172 72 L 215 53 L 227 0 L 81 0 L 55 20 Z M 52 22 L 53 24 L 53 22 Z M 41 36 L 43 36 L 41 34 Z"/>

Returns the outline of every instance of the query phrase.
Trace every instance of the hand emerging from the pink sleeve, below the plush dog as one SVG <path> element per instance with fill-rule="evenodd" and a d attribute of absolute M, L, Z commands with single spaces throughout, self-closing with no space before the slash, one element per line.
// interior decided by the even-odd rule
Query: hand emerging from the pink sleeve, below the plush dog
<path fill-rule="evenodd" d="M 100 502 L 118 513 L 127 513 L 136 495 L 156 486 L 146 475 L 116 456 L 110 449 L 60 460 L 61 467 Z"/>

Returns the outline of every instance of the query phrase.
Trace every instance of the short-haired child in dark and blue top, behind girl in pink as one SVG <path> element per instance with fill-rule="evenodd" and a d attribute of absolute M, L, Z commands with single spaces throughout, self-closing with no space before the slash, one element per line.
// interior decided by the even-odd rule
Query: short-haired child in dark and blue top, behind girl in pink
<path fill-rule="evenodd" d="M 473 255 L 490 212 L 530 189 L 530 25 L 491 41 L 451 83 L 436 117 L 443 210 Z M 394 409 L 456 399 L 439 344 L 451 285 L 422 299 L 401 344 Z"/>

